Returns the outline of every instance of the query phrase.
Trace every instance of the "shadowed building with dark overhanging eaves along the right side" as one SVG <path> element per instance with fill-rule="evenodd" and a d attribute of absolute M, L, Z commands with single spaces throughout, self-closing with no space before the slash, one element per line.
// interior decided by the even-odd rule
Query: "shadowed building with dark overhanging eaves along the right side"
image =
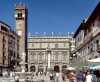
<path fill-rule="evenodd" d="M 87 20 L 84 20 L 74 34 L 75 51 L 72 64 L 88 65 L 88 60 L 100 57 L 100 3 Z"/>

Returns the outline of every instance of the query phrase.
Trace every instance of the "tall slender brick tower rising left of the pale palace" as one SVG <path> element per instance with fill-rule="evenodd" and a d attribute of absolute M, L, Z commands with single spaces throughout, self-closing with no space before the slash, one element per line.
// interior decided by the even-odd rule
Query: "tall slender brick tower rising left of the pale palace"
<path fill-rule="evenodd" d="M 27 63 L 27 16 L 28 10 L 24 5 L 17 5 L 15 8 L 16 32 L 19 36 L 19 57 L 22 63 Z M 23 54 L 25 54 L 24 59 Z M 24 65 L 27 68 L 27 65 Z"/>

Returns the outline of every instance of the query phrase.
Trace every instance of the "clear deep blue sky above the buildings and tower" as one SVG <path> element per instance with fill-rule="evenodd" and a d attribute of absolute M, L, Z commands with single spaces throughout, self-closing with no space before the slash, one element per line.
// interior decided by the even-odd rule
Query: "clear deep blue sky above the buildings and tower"
<path fill-rule="evenodd" d="M 28 7 L 28 32 L 75 32 L 100 0 L 0 0 L 0 20 L 15 28 L 15 4 Z"/>

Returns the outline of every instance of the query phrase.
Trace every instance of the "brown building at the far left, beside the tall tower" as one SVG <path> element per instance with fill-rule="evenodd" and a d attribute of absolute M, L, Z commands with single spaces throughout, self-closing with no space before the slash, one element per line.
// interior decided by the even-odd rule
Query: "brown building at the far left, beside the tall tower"
<path fill-rule="evenodd" d="M 18 64 L 18 35 L 10 26 L 0 21 L 0 75 Z"/>

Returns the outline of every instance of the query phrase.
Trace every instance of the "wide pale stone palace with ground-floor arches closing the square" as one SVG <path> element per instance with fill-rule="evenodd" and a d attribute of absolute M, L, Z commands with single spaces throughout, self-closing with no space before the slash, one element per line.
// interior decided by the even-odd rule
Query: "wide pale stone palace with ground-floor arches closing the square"
<path fill-rule="evenodd" d="M 75 48 L 72 37 L 39 36 L 28 37 L 28 69 L 31 72 L 46 72 L 48 69 L 57 72 L 69 64 L 69 55 Z"/>

